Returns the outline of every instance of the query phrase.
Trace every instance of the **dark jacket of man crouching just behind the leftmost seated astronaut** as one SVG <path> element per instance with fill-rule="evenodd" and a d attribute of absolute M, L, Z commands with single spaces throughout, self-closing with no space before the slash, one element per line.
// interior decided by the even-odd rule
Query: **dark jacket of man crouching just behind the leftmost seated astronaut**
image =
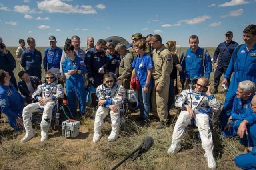
<path fill-rule="evenodd" d="M 37 89 L 37 86 L 39 84 L 42 84 L 41 80 L 38 77 L 34 77 L 34 76 L 30 76 L 30 81 L 32 84 L 32 87 L 34 88 L 34 90 Z M 28 87 L 26 85 L 26 82 L 24 82 L 23 80 L 20 80 L 18 82 L 18 88 L 20 90 L 20 93 L 26 97 L 29 97 L 28 95 L 30 94 L 30 92 L 28 91 Z"/>

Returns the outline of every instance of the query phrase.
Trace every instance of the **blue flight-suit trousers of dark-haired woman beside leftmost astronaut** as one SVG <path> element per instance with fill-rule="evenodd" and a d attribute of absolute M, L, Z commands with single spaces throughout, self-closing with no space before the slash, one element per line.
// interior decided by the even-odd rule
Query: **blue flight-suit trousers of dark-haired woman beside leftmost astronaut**
<path fill-rule="evenodd" d="M 67 79 L 66 91 L 68 96 L 68 105 L 73 117 L 76 117 L 76 98 L 78 99 L 80 104 L 79 105 L 80 113 L 84 114 L 86 110 L 86 104 L 85 104 L 86 96 L 85 96 L 84 80 L 82 76 L 78 78 L 78 80 Z"/>

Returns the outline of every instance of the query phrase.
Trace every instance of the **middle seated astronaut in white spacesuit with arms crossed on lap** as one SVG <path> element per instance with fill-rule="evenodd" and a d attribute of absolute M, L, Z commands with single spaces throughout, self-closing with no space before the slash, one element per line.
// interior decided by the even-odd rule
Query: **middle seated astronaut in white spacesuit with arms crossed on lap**
<path fill-rule="evenodd" d="M 124 103 L 125 89 L 119 85 L 116 76 L 112 73 L 104 74 L 104 83 L 97 87 L 99 99 L 98 109 L 94 121 L 93 142 L 100 141 L 103 119 L 110 113 L 112 131 L 108 141 L 114 141 L 118 137 L 120 126 L 120 106 Z"/>

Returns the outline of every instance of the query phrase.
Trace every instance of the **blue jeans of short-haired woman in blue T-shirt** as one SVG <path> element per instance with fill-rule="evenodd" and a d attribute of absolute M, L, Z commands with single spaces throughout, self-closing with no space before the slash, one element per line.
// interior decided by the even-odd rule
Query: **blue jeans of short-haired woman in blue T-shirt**
<path fill-rule="evenodd" d="M 144 120 L 148 120 L 148 115 L 150 112 L 150 96 L 151 96 L 152 86 L 148 88 L 148 92 L 144 93 L 144 88 L 140 87 L 138 93 L 140 98 L 140 116 Z"/>

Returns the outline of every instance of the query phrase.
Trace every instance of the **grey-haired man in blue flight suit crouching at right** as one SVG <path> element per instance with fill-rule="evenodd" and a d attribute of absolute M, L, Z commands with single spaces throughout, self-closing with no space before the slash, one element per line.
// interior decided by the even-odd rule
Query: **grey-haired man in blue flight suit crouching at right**
<path fill-rule="evenodd" d="M 228 118 L 228 124 L 222 131 L 225 137 L 237 136 L 237 129 L 245 117 L 251 115 L 250 103 L 255 94 L 255 83 L 249 80 L 239 82 L 236 97 L 234 98 L 231 116 Z M 247 145 L 246 137 L 240 139 L 240 144 Z"/>

